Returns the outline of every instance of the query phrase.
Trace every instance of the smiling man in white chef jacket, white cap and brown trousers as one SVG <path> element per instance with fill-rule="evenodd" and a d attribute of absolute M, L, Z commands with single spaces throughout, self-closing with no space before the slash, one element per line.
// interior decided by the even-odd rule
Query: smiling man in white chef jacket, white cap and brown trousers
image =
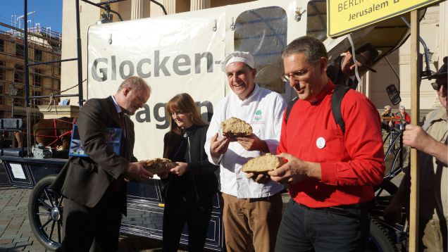
<path fill-rule="evenodd" d="M 210 162 L 220 165 L 227 251 L 274 251 L 282 218 L 282 184 L 242 172 L 250 158 L 276 152 L 286 107 L 280 94 L 254 82 L 254 66 L 254 57 L 243 51 L 229 53 L 221 61 L 232 92 L 214 109 L 204 146 Z M 220 122 L 231 117 L 249 123 L 253 134 L 220 135 Z"/>

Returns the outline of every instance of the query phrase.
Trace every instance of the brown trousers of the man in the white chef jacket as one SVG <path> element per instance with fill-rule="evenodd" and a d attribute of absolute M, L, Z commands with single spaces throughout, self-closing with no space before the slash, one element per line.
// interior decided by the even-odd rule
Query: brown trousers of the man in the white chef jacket
<path fill-rule="evenodd" d="M 228 252 L 274 251 L 281 220 L 280 192 L 260 199 L 238 199 L 223 193 L 223 224 Z"/>

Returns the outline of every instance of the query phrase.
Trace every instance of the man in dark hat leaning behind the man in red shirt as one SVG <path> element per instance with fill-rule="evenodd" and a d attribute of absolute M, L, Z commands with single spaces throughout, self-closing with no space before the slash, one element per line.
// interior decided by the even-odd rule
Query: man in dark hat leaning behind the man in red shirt
<path fill-rule="evenodd" d="M 378 57 L 378 50 L 371 44 L 367 43 L 355 50 L 355 58 L 358 63 L 358 73 L 362 76 L 367 70 L 376 73 L 372 68 L 375 59 Z M 333 83 L 345 85 L 352 89 L 358 87 L 358 80 L 355 76 L 355 63 L 349 48 L 341 56 L 335 58 L 334 61 L 328 64 L 327 76 Z"/>

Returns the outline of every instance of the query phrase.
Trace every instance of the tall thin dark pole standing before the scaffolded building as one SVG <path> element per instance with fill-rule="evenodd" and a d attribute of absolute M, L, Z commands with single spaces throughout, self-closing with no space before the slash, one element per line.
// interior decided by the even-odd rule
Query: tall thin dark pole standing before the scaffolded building
<path fill-rule="evenodd" d="M 28 76 L 28 1 L 23 0 L 23 15 L 25 21 L 23 22 L 23 44 L 25 47 L 24 58 L 25 58 L 25 107 L 27 111 L 27 132 L 30 135 L 31 132 L 31 111 L 30 111 L 30 99 L 29 99 L 29 85 L 30 85 L 30 77 Z M 27 156 L 31 156 L 31 137 L 27 137 Z"/>

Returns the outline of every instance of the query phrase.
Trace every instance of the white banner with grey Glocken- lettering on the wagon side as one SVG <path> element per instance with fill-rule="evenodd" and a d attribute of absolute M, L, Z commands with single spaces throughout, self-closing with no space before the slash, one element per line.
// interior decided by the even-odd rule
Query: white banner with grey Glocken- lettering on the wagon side
<path fill-rule="evenodd" d="M 225 53 L 225 9 L 197 14 L 89 28 L 88 98 L 114 94 L 128 76 L 140 76 L 152 87 L 147 104 L 132 116 L 139 160 L 162 156 L 163 135 L 169 130 L 165 105 L 175 94 L 190 94 L 203 118 L 225 95 L 219 65 Z"/>

